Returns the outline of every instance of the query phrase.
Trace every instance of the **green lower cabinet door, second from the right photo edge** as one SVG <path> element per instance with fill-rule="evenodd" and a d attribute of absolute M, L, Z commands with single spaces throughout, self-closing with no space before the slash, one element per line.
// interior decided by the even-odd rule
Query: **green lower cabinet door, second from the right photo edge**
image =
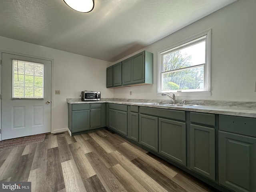
<path fill-rule="evenodd" d="M 215 180 L 215 129 L 190 124 L 190 168 Z"/>

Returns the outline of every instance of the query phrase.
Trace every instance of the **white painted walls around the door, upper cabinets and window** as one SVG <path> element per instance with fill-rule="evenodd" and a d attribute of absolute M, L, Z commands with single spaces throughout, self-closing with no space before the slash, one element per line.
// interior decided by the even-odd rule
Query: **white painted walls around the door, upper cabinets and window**
<path fill-rule="evenodd" d="M 53 89 L 61 94 L 54 95 L 53 132 L 68 127 L 66 98 L 79 98 L 81 90 L 100 90 L 103 98 L 164 99 L 156 96 L 157 51 L 209 28 L 212 28 L 212 96 L 186 99 L 256 102 L 255 7 L 255 0 L 238 0 L 144 48 L 154 54 L 153 85 L 107 89 L 106 67 L 110 62 L 4 37 L 0 37 L 0 50 L 54 59 Z"/>

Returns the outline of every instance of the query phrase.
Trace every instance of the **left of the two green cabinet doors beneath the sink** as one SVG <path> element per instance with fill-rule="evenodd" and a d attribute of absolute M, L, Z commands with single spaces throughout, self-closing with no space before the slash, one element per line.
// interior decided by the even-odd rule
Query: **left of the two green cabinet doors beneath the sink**
<path fill-rule="evenodd" d="M 158 118 L 140 114 L 140 144 L 158 152 Z"/>

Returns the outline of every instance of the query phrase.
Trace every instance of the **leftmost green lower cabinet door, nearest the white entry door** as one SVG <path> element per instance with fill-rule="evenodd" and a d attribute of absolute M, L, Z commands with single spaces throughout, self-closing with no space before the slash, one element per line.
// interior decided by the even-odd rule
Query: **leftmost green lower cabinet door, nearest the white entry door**
<path fill-rule="evenodd" d="M 72 133 L 90 128 L 90 110 L 72 111 Z"/>

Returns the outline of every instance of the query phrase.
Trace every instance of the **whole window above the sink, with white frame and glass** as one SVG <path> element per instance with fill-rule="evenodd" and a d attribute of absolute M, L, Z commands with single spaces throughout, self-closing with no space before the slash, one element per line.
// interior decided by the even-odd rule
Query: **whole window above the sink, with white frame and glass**
<path fill-rule="evenodd" d="M 210 91 L 210 30 L 158 52 L 158 92 Z"/>

